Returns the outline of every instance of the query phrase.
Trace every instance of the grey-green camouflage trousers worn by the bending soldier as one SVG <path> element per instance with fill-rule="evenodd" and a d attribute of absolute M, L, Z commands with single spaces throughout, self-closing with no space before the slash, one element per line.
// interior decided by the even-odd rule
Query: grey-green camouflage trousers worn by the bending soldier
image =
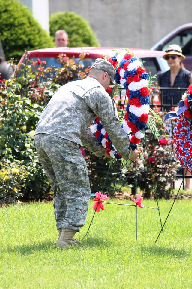
<path fill-rule="evenodd" d="M 91 190 L 80 145 L 49 134 L 35 135 L 34 144 L 53 190 L 57 230 L 85 225 Z"/>

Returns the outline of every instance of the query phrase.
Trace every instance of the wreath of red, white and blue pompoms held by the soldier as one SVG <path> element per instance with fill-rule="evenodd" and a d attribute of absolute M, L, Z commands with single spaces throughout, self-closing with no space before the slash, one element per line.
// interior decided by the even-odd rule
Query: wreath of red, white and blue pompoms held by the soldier
<path fill-rule="evenodd" d="M 128 104 L 121 126 L 129 137 L 132 150 L 135 150 L 144 137 L 143 131 L 146 129 L 149 119 L 149 74 L 146 73 L 142 62 L 134 57 L 131 51 L 129 53 L 128 50 L 125 49 L 125 51 L 127 53 L 116 54 L 107 60 L 116 69 L 116 83 L 126 89 Z M 112 158 L 122 158 L 98 117 L 91 123 L 91 131 L 100 144 L 107 148 L 107 152 Z"/>

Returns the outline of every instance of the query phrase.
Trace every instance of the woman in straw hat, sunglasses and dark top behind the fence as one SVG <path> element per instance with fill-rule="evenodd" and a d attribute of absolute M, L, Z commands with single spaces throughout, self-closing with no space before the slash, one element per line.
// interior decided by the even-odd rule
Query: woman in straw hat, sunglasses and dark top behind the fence
<path fill-rule="evenodd" d="M 182 68 L 182 60 L 185 56 L 182 54 L 182 49 L 179 45 L 169 45 L 166 54 L 163 56 L 167 60 L 170 70 L 158 73 L 158 84 L 160 87 L 188 87 L 192 83 L 191 72 Z M 164 104 L 171 105 L 171 98 L 173 97 L 173 104 L 176 105 L 181 100 L 181 92 L 176 90 L 165 90 L 163 93 Z M 160 98 L 160 97 L 159 97 Z M 161 102 L 161 99 L 159 100 Z M 170 107 L 166 107 L 170 111 Z"/>

